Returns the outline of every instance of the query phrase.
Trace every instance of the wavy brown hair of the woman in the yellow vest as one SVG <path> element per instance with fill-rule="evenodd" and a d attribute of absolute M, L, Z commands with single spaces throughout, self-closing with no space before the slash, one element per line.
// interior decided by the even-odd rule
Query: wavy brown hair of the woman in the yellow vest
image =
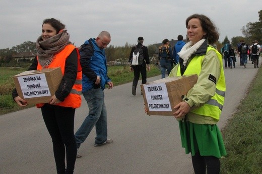
<path fill-rule="evenodd" d="M 185 27 L 187 28 L 188 22 L 193 19 L 197 18 L 200 20 L 201 27 L 203 31 L 206 33 L 205 39 L 208 39 L 209 44 L 214 44 L 219 39 L 219 33 L 215 24 L 205 15 L 194 14 L 188 17 L 185 21 Z"/>

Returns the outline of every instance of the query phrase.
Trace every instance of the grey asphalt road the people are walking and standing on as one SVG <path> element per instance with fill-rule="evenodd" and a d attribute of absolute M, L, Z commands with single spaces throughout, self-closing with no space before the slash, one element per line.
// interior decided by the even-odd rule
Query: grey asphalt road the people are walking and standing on
<path fill-rule="evenodd" d="M 236 68 L 224 69 L 227 90 L 220 128 L 245 96 L 257 70 L 250 61 L 245 69 L 239 61 Z M 142 95 L 133 96 L 131 89 L 132 83 L 105 89 L 108 137 L 114 142 L 94 147 L 93 129 L 81 145 L 83 157 L 77 159 L 75 173 L 193 173 L 190 154 L 181 147 L 177 121 L 172 116 L 146 115 Z M 87 113 L 83 98 L 75 130 Z M 0 132 L 0 173 L 56 173 L 51 138 L 39 109 L 1 115 Z"/>

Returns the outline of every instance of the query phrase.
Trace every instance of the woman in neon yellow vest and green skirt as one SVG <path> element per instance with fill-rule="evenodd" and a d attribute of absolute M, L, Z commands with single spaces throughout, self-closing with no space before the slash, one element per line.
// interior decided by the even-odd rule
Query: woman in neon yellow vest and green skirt
<path fill-rule="evenodd" d="M 187 39 L 180 62 L 169 77 L 197 74 L 197 83 L 182 96 L 173 113 L 180 128 L 182 147 L 191 153 L 195 173 L 219 173 L 221 156 L 226 155 L 222 135 L 216 123 L 226 91 L 221 54 L 211 45 L 219 34 L 211 20 L 194 14 L 186 19 Z"/>

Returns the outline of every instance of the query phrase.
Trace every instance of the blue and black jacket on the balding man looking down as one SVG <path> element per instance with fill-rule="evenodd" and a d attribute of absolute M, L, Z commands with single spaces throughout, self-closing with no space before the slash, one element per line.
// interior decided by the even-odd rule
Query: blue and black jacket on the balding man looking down
<path fill-rule="evenodd" d="M 104 90 L 107 82 L 111 81 L 107 77 L 105 50 L 98 47 L 95 39 L 89 39 L 81 47 L 82 91 L 100 87 Z M 100 76 L 100 85 L 95 85 L 97 76 Z"/>

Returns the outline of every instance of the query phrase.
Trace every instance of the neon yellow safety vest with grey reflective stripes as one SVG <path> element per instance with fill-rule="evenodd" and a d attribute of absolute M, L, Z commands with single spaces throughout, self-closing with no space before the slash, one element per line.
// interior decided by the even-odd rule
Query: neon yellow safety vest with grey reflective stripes
<path fill-rule="evenodd" d="M 225 92 L 226 92 L 226 83 L 225 83 L 225 76 L 224 76 L 224 70 L 223 70 L 223 63 L 222 63 L 222 56 L 221 54 L 214 48 L 208 47 L 207 52 L 210 50 L 214 50 L 219 58 L 220 62 L 220 77 L 216 83 L 216 92 L 213 97 L 206 103 L 204 103 L 203 106 L 193 109 L 190 112 L 199 114 L 199 115 L 205 115 L 213 117 L 217 120 L 219 120 L 223 105 L 224 105 L 224 99 L 225 99 Z M 190 74 L 200 74 L 202 62 L 205 55 L 203 56 L 195 56 L 191 59 L 190 63 L 188 64 L 185 72 L 183 75 L 190 75 Z M 181 76 L 180 72 L 180 65 L 178 65 L 178 71 L 177 76 Z"/>

